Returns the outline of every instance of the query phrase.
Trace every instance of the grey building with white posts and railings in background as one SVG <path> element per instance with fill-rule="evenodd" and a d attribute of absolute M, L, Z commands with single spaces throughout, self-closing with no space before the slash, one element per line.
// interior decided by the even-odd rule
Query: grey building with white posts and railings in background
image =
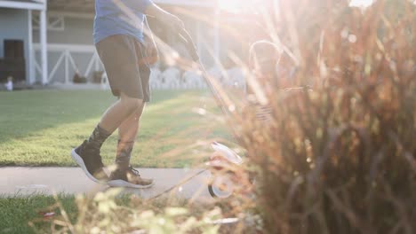
<path fill-rule="evenodd" d="M 208 51 L 220 57 L 219 30 L 212 21 L 217 0 L 154 2 L 185 21 L 204 63 L 212 66 L 212 52 Z M 72 83 L 78 72 L 92 82 L 94 72 L 103 70 L 92 42 L 93 18 L 94 0 L 0 0 L 0 59 L 4 57 L 4 40 L 21 40 L 26 73 L 16 77 L 18 80 Z M 149 23 L 166 43 L 174 43 L 163 27 L 154 20 Z M 5 79 L 0 77 L 0 82 Z"/>

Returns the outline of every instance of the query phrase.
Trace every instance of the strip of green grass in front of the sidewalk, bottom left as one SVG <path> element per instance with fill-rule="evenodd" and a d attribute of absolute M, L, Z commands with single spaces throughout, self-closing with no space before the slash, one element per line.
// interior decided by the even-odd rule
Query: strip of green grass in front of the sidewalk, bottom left
<path fill-rule="evenodd" d="M 108 200 L 105 200 L 104 202 Z M 140 209 L 152 209 L 155 212 L 162 212 L 165 207 L 186 207 L 188 205 L 187 199 L 162 198 L 152 201 L 143 201 L 139 197 L 132 197 L 129 194 L 118 195 L 114 201 L 116 202 L 116 205 L 120 207 L 129 207 L 136 209 L 137 211 Z M 84 203 L 82 204 L 83 205 L 81 206 L 87 206 Z M 53 220 L 64 221 L 61 215 L 62 209 L 68 215 L 69 221 L 72 224 L 78 222 L 78 206 L 80 206 L 79 201 L 76 200 L 74 195 L 59 194 L 56 198 L 43 194 L 34 194 L 31 196 L 16 195 L 10 198 L 0 196 L 0 234 L 52 233 L 51 224 Z M 91 204 L 88 206 L 93 209 Z M 201 213 L 203 206 L 195 205 L 194 207 L 195 208 L 192 210 L 193 214 Z M 212 208 L 212 206 L 207 207 Z M 54 213 L 52 218 L 45 219 L 44 214 L 51 212 Z M 90 221 L 88 220 L 87 222 Z"/>

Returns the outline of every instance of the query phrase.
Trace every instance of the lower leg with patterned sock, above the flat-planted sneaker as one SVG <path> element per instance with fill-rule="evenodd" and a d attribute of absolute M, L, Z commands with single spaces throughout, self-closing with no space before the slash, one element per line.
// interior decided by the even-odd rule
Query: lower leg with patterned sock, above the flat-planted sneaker
<path fill-rule="evenodd" d="M 132 149 L 140 126 L 140 117 L 145 104 L 141 105 L 118 127 L 118 144 L 116 151 L 116 167 L 128 168 L 132 156 Z"/>

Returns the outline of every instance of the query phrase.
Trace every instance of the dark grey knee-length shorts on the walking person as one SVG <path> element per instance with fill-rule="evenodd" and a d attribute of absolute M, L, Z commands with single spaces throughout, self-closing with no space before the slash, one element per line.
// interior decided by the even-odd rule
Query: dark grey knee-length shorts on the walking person
<path fill-rule="evenodd" d="M 114 96 L 150 100 L 150 67 L 140 63 L 146 57 L 144 45 L 132 35 L 111 35 L 95 45 Z"/>

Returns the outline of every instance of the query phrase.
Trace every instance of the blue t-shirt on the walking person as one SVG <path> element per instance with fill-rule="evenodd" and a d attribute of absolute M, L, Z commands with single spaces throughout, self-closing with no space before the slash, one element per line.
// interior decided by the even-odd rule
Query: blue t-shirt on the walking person
<path fill-rule="evenodd" d="M 110 35 L 132 35 L 143 42 L 149 4 L 151 0 L 95 0 L 94 43 Z"/>

